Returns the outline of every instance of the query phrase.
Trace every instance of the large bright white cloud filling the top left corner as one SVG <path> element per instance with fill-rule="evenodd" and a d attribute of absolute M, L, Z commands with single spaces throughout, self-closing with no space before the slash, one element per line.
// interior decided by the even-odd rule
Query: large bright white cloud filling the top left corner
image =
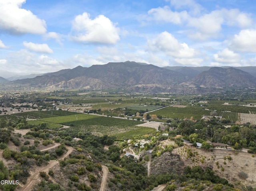
<path fill-rule="evenodd" d="M 0 0 L 0 29 L 13 34 L 46 32 L 46 23 L 30 10 L 22 9 L 26 0 Z"/>

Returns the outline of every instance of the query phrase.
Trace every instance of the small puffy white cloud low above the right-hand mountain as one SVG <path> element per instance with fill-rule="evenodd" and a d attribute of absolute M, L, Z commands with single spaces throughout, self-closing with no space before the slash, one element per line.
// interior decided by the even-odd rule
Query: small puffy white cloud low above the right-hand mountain
<path fill-rule="evenodd" d="M 229 50 L 228 48 L 218 51 L 218 53 L 214 54 L 213 57 L 218 63 L 237 64 L 241 61 L 240 55 L 238 53 L 234 53 L 234 51 Z"/>

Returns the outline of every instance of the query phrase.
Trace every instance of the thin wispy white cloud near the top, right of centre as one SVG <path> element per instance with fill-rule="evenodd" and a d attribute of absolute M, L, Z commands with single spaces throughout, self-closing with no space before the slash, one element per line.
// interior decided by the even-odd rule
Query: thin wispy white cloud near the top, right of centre
<path fill-rule="evenodd" d="M 174 24 L 182 24 L 188 18 L 188 13 L 186 11 L 173 12 L 169 6 L 150 9 L 148 14 L 152 15 L 152 20 Z"/>

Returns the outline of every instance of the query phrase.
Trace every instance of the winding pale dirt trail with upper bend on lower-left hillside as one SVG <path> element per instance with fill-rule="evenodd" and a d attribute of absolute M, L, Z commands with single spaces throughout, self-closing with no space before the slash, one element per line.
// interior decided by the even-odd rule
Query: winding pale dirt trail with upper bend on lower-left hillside
<path fill-rule="evenodd" d="M 56 145 L 58 146 L 58 144 L 56 144 Z M 56 145 L 53 147 L 56 147 Z M 66 154 L 64 154 L 62 157 L 60 157 L 58 160 L 62 160 L 64 158 L 66 158 L 74 150 L 74 148 L 72 148 L 70 146 L 66 146 L 66 148 L 68 149 L 68 151 L 66 152 Z M 44 149 L 44 150 L 50 150 L 50 149 L 52 149 L 52 147 Z M 50 168 L 54 167 L 56 164 L 59 163 L 58 160 L 50 160 L 47 166 L 36 167 L 34 169 L 34 172 L 32 172 L 30 177 L 28 178 L 27 183 L 22 188 L 20 188 L 20 191 L 29 191 L 32 188 L 32 186 L 36 183 L 36 181 L 40 181 L 39 180 L 40 172 L 48 171 Z"/>

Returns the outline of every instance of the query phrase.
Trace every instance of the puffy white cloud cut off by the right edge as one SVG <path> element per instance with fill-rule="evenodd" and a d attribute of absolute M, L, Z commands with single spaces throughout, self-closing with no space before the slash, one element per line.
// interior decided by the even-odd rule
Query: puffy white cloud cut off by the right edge
<path fill-rule="evenodd" d="M 256 52 L 256 30 L 241 30 L 230 41 L 229 48 L 235 51 Z"/>

